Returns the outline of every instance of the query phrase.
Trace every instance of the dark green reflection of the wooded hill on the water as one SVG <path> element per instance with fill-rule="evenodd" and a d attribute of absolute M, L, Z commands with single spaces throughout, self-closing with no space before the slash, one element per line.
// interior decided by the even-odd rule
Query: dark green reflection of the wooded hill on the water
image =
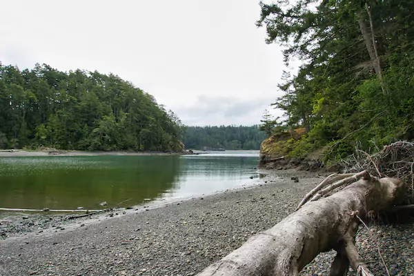
<path fill-rule="evenodd" d="M 155 199 L 177 182 L 179 157 L 19 157 L 0 159 L 3 208 L 97 208 Z M 161 169 L 160 169 L 161 168 Z"/>

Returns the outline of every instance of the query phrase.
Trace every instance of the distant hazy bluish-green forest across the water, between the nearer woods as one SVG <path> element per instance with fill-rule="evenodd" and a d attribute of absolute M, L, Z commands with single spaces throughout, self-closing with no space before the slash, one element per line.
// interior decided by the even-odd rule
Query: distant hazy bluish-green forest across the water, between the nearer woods
<path fill-rule="evenodd" d="M 188 126 L 183 142 L 186 148 L 197 150 L 259 150 L 265 138 L 259 126 Z"/>

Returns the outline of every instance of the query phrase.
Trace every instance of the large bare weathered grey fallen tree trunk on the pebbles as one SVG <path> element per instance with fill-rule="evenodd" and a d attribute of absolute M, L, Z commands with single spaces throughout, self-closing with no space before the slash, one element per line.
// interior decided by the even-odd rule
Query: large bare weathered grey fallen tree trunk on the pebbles
<path fill-rule="evenodd" d="M 355 246 L 359 217 L 401 201 L 407 186 L 399 179 L 359 175 L 364 178 L 329 197 L 304 204 L 199 276 L 298 275 L 317 254 L 331 248 L 337 251 L 331 276 L 346 275 L 350 264 L 358 275 L 371 275 Z"/>

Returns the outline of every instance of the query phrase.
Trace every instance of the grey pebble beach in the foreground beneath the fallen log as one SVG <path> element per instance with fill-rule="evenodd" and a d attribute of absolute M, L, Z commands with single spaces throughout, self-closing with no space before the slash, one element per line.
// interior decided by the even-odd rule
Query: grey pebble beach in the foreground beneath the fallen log
<path fill-rule="evenodd" d="M 52 221 L 43 224 L 21 217 L 21 224 L 32 224 L 21 228 L 5 220 L 0 275 L 196 275 L 292 213 L 324 176 L 274 171 L 254 188 L 116 211 L 108 219 L 55 216 L 41 218 Z M 414 275 L 414 221 L 370 228 L 390 274 Z M 357 244 L 374 275 L 386 275 L 367 230 L 359 231 Z M 334 255 L 319 254 L 301 275 L 326 275 Z"/>

